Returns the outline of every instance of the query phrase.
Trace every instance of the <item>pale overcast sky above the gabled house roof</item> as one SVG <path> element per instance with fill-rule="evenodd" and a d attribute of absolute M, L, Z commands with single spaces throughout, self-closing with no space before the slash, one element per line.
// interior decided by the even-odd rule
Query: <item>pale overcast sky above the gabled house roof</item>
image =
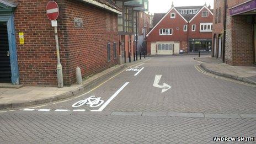
<path fill-rule="evenodd" d="M 180 6 L 207 6 L 211 4 L 214 6 L 214 0 L 150 0 L 150 13 L 166 13 L 172 7 L 172 2 L 174 7 Z"/>

